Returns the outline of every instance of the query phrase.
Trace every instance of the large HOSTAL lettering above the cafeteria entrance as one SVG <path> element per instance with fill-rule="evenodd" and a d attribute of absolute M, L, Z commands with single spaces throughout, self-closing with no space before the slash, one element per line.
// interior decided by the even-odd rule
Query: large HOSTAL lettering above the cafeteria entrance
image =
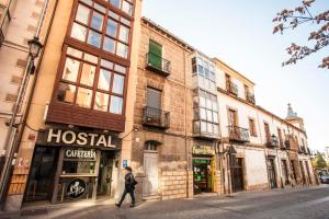
<path fill-rule="evenodd" d="M 75 132 L 72 130 L 53 128 L 48 130 L 47 136 L 48 143 L 115 148 L 111 141 L 112 137 L 103 134 Z"/>

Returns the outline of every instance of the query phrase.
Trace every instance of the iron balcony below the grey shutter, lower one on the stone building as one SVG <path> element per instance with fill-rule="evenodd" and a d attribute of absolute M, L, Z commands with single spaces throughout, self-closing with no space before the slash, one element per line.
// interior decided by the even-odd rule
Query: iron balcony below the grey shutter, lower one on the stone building
<path fill-rule="evenodd" d="M 170 113 L 145 106 L 143 108 L 143 125 L 167 129 L 170 127 Z"/>

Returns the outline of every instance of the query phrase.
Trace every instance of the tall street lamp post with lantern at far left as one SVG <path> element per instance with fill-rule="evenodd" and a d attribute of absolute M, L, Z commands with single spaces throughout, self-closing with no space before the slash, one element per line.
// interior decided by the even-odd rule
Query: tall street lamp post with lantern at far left
<path fill-rule="evenodd" d="M 1 208 L 3 208 L 4 204 L 4 197 L 9 187 L 9 180 L 11 176 L 11 172 L 15 165 L 18 152 L 15 146 L 15 137 L 16 137 L 16 115 L 20 111 L 21 103 L 24 97 L 25 89 L 27 88 L 30 76 L 34 73 L 34 59 L 36 59 L 39 55 L 41 49 L 43 48 L 42 43 L 38 41 L 38 37 L 34 36 L 33 39 L 27 42 L 29 44 L 29 56 L 27 56 L 27 67 L 24 71 L 22 85 L 20 87 L 18 99 L 13 107 L 13 113 L 10 118 L 8 134 L 5 137 L 5 154 L 4 154 L 4 165 L 1 171 L 1 177 L 0 177 L 0 204 Z M 21 127 L 22 128 L 22 127 Z M 12 140 L 13 138 L 13 140 Z M 19 145 L 19 143 L 16 143 Z"/>

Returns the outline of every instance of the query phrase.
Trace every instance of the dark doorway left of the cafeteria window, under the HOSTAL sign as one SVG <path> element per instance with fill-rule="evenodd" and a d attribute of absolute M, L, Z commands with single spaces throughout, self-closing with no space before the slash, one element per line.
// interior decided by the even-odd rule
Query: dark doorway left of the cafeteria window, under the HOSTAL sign
<path fill-rule="evenodd" d="M 35 148 L 24 201 L 50 201 L 54 191 L 57 160 L 58 149 L 49 147 Z"/>

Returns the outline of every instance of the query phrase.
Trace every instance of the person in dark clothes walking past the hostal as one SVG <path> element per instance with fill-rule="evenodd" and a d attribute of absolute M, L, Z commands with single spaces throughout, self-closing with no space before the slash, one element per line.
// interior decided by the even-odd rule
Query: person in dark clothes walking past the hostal
<path fill-rule="evenodd" d="M 133 175 L 133 170 L 131 166 L 126 166 L 125 168 L 125 171 L 126 171 L 126 174 L 125 174 L 125 189 L 121 196 L 121 199 L 118 203 L 116 203 L 116 207 L 121 207 L 122 203 L 124 201 L 125 197 L 127 194 L 131 195 L 132 197 L 132 205 L 131 205 L 131 208 L 135 207 L 135 194 L 134 194 L 134 191 L 135 191 L 135 185 L 137 184 L 137 182 L 135 181 L 135 177 Z"/>

